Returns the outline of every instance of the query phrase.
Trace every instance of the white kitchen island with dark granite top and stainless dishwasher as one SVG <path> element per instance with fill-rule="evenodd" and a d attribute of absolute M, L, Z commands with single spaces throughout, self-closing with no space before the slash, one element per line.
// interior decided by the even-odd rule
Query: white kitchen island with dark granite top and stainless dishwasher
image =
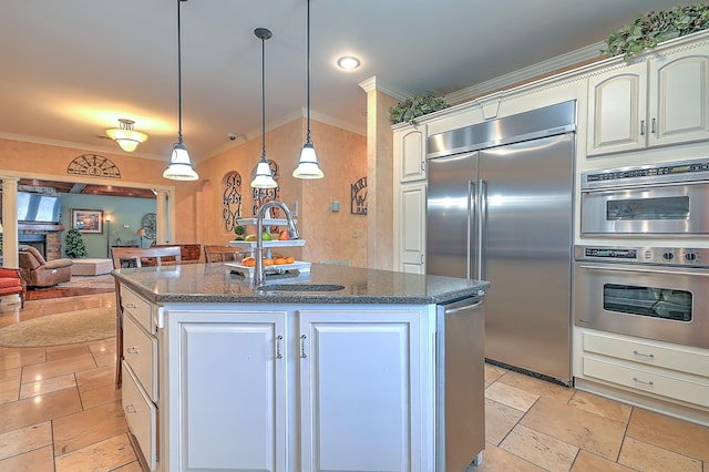
<path fill-rule="evenodd" d="M 484 448 L 486 281 L 312 264 L 113 271 L 122 397 L 161 471 L 454 471 Z"/>

